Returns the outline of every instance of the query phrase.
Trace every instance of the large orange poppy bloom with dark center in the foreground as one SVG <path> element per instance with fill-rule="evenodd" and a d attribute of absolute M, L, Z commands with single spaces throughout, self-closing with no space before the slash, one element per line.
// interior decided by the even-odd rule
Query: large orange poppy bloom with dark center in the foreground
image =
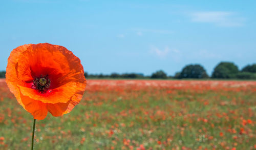
<path fill-rule="evenodd" d="M 69 113 L 86 88 L 80 59 L 65 47 L 48 43 L 14 49 L 6 82 L 18 103 L 39 120 L 48 111 L 53 116 Z"/>

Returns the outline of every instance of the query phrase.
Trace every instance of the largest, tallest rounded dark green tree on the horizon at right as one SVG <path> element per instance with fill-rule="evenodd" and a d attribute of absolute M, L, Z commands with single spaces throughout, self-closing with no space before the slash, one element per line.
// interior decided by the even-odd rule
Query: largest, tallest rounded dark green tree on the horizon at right
<path fill-rule="evenodd" d="M 233 62 L 220 62 L 212 73 L 212 78 L 236 78 L 238 67 Z"/>

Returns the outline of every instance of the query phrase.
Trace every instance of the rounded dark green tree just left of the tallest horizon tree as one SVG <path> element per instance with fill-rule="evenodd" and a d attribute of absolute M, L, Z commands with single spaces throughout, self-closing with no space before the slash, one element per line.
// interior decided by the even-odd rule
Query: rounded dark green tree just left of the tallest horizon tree
<path fill-rule="evenodd" d="M 187 65 L 185 66 L 179 78 L 208 78 L 205 69 L 201 65 Z"/>

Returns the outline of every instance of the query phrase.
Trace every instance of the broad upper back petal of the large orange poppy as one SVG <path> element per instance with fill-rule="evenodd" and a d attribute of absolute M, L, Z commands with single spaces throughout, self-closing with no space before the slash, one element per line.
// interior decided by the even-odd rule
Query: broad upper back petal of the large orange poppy
<path fill-rule="evenodd" d="M 19 78 L 29 81 L 30 76 L 49 75 L 52 84 L 51 89 L 70 81 L 80 80 L 80 82 L 84 82 L 85 80 L 80 59 L 61 46 L 32 45 L 26 52 L 20 54 L 18 62 Z"/>

